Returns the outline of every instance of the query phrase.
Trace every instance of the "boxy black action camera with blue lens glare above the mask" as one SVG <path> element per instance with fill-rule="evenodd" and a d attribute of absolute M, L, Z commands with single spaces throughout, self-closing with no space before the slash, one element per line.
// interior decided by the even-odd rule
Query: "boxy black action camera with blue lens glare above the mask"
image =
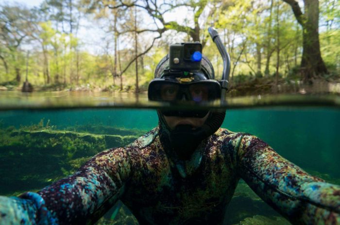
<path fill-rule="evenodd" d="M 169 57 L 170 70 L 200 70 L 202 59 L 202 44 L 198 42 L 186 42 L 170 45 Z"/>

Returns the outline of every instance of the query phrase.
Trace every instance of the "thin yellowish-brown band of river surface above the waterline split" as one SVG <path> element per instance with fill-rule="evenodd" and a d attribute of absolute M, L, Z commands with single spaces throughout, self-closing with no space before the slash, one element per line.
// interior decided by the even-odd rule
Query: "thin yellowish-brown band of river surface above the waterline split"
<path fill-rule="evenodd" d="M 340 107 L 340 96 L 331 94 L 305 95 L 256 95 L 247 97 L 227 97 L 225 103 L 214 102 L 209 108 L 242 108 L 261 106 L 332 106 Z M 81 92 L 55 91 L 21 93 L 17 91 L 0 92 L 0 110 L 6 109 L 49 109 L 49 108 L 158 108 L 169 107 L 167 103 L 148 101 L 147 93 L 127 92 Z M 173 107 L 173 106 L 171 106 Z M 192 105 L 181 105 L 181 108 Z"/>

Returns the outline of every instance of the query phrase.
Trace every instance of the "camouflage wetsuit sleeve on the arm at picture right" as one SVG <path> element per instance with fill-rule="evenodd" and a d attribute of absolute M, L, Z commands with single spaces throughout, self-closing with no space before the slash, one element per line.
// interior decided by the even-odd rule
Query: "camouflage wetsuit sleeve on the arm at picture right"
<path fill-rule="evenodd" d="M 293 225 L 340 225 L 340 186 L 313 177 L 252 135 L 238 143 L 239 176 Z"/>

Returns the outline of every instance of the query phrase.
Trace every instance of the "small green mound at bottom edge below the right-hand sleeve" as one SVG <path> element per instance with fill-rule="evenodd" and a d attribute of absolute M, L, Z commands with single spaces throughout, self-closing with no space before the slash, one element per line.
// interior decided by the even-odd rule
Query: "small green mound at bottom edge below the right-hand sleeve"
<path fill-rule="evenodd" d="M 288 220 L 283 217 L 273 216 L 266 217 L 255 215 L 253 217 L 245 218 L 243 221 L 235 225 L 291 225 Z"/>

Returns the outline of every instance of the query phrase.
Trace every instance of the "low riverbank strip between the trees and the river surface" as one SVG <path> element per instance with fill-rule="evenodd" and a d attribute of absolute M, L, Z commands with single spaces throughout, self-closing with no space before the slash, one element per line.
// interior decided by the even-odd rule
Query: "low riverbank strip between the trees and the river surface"
<path fill-rule="evenodd" d="M 139 87 L 138 93 L 146 93 L 147 85 Z M 0 91 L 21 91 L 22 84 L 15 81 L 0 84 Z M 32 92 L 50 91 L 78 91 L 78 92 L 111 92 L 111 93 L 136 93 L 133 85 L 128 85 L 120 90 L 118 86 L 99 87 L 90 84 L 65 85 L 52 84 L 33 86 Z M 227 96 L 252 96 L 263 94 L 340 94 L 340 76 L 319 77 L 310 83 L 304 83 L 298 79 L 274 77 L 247 77 L 241 81 L 229 84 Z"/>

